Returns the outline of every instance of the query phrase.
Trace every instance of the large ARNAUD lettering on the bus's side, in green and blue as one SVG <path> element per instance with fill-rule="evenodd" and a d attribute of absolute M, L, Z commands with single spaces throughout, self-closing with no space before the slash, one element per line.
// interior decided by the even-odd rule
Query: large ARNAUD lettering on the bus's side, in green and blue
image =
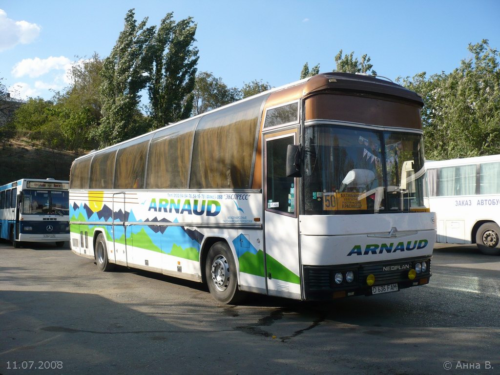
<path fill-rule="evenodd" d="M 149 203 L 148 211 L 180 213 L 188 215 L 206 215 L 217 216 L 220 213 L 220 203 L 216 200 L 205 199 L 168 199 L 168 198 L 152 198 Z"/>

